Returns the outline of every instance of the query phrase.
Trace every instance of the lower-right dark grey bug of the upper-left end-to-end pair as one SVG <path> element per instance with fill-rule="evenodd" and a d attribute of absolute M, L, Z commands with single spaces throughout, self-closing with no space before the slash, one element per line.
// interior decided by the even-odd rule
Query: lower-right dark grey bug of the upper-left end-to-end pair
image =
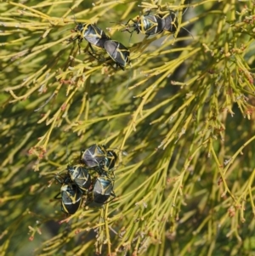
<path fill-rule="evenodd" d="M 112 60 L 116 62 L 117 66 L 120 66 L 122 70 L 130 63 L 129 50 L 122 44 L 115 40 L 105 41 L 105 51 Z"/>

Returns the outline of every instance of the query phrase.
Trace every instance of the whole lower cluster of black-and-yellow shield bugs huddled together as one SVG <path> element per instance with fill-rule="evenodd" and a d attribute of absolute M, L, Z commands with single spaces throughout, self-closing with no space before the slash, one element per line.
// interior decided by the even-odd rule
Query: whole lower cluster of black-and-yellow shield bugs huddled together
<path fill-rule="evenodd" d="M 113 188 L 116 161 L 115 151 L 106 149 L 105 145 L 94 144 L 82 150 L 80 163 L 68 165 L 64 177 L 55 177 L 62 185 L 59 194 L 55 196 L 62 201 L 62 211 L 76 213 L 84 198 L 87 205 L 92 202 L 103 205 L 111 201 L 108 200 L 111 196 L 115 198 Z"/>

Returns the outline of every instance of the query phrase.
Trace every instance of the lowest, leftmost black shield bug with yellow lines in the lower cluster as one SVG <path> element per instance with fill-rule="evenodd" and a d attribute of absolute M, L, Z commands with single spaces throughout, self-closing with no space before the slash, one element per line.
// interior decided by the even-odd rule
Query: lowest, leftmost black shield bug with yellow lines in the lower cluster
<path fill-rule="evenodd" d="M 62 181 L 55 177 L 62 184 L 59 194 L 54 196 L 55 199 L 61 199 L 61 209 L 64 213 L 74 214 L 82 204 L 82 191 L 75 183 L 71 183 L 71 179 L 66 176 Z"/>

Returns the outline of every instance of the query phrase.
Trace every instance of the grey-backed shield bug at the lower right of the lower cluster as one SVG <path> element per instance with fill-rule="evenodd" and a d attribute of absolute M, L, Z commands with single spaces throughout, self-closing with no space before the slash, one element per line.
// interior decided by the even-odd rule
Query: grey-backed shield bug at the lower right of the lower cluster
<path fill-rule="evenodd" d="M 107 203 L 106 201 L 110 196 L 114 196 L 115 198 L 116 195 L 113 191 L 113 185 L 113 179 L 110 179 L 107 176 L 98 177 L 94 183 L 93 201 L 99 204 L 104 204 Z"/>

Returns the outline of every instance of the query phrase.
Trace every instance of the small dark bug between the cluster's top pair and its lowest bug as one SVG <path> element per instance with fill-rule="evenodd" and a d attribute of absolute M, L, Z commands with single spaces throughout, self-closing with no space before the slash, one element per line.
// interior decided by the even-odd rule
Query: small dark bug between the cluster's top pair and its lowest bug
<path fill-rule="evenodd" d="M 67 171 L 70 174 L 71 180 L 80 188 L 80 190 L 88 190 L 91 185 L 91 177 L 87 168 L 84 168 L 81 165 L 68 165 Z"/>

